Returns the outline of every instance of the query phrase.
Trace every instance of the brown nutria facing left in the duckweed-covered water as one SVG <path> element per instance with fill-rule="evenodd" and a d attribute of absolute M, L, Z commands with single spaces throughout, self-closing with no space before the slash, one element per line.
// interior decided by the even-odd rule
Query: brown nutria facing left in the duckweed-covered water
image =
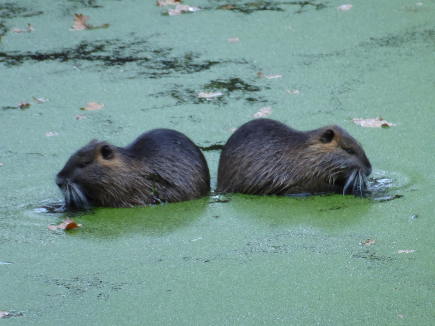
<path fill-rule="evenodd" d="M 207 195 L 210 174 L 189 138 L 154 129 L 126 147 L 91 140 L 71 155 L 56 183 L 71 208 L 131 207 Z"/>

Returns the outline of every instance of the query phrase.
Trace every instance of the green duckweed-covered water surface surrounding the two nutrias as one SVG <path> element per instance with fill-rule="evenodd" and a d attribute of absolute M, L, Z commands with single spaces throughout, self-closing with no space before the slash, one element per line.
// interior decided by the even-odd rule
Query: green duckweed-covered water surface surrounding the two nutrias
<path fill-rule="evenodd" d="M 435 3 L 183 4 L 201 10 L 0 3 L 2 323 L 434 324 Z M 75 13 L 110 26 L 72 31 Z M 104 107 L 80 110 L 91 102 Z M 52 213 L 71 153 L 159 127 L 200 146 L 214 190 L 222 146 L 264 106 L 297 130 L 338 124 L 355 136 L 370 193 L 212 192 Z M 352 120 L 378 116 L 396 126 Z M 82 226 L 47 229 L 67 217 Z"/>

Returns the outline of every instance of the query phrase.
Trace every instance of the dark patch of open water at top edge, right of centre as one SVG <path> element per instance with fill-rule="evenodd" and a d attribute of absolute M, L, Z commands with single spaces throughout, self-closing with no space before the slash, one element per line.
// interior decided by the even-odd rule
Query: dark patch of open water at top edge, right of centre
<path fill-rule="evenodd" d="M 248 2 L 244 4 L 225 4 L 217 7 L 217 9 L 238 11 L 241 13 L 253 13 L 254 11 L 261 10 L 273 10 L 273 11 L 285 11 L 281 5 L 297 5 L 300 9 L 295 13 L 301 13 L 305 6 L 314 7 L 316 10 L 320 10 L 326 7 L 326 3 L 315 3 L 314 1 L 290 1 L 290 2 Z M 204 8 L 207 9 L 207 8 Z"/>

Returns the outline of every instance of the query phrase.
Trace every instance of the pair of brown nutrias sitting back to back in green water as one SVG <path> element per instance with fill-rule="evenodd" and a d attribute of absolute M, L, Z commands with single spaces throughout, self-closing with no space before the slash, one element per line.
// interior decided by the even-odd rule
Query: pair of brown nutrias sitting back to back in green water
<path fill-rule="evenodd" d="M 270 119 L 241 126 L 219 160 L 217 191 L 254 195 L 361 192 L 371 165 L 339 126 L 302 132 Z M 57 174 L 67 206 L 130 207 L 207 196 L 210 174 L 184 134 L 154 129 L 127 147 L 92 140 Z"/>

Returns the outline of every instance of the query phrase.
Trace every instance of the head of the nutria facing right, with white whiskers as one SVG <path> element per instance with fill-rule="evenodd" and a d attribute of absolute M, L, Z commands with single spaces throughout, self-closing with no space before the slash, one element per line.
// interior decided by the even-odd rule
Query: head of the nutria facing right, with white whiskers
<path fill-rule="evenodd" d="M 326 126 L 308 132 L 306 143 L 316 176 L 346 192 L 362 195 L 371 164 L 360 143 L 340 126 Z M 314 158 L 313 157 L 313 158 Z"/>

